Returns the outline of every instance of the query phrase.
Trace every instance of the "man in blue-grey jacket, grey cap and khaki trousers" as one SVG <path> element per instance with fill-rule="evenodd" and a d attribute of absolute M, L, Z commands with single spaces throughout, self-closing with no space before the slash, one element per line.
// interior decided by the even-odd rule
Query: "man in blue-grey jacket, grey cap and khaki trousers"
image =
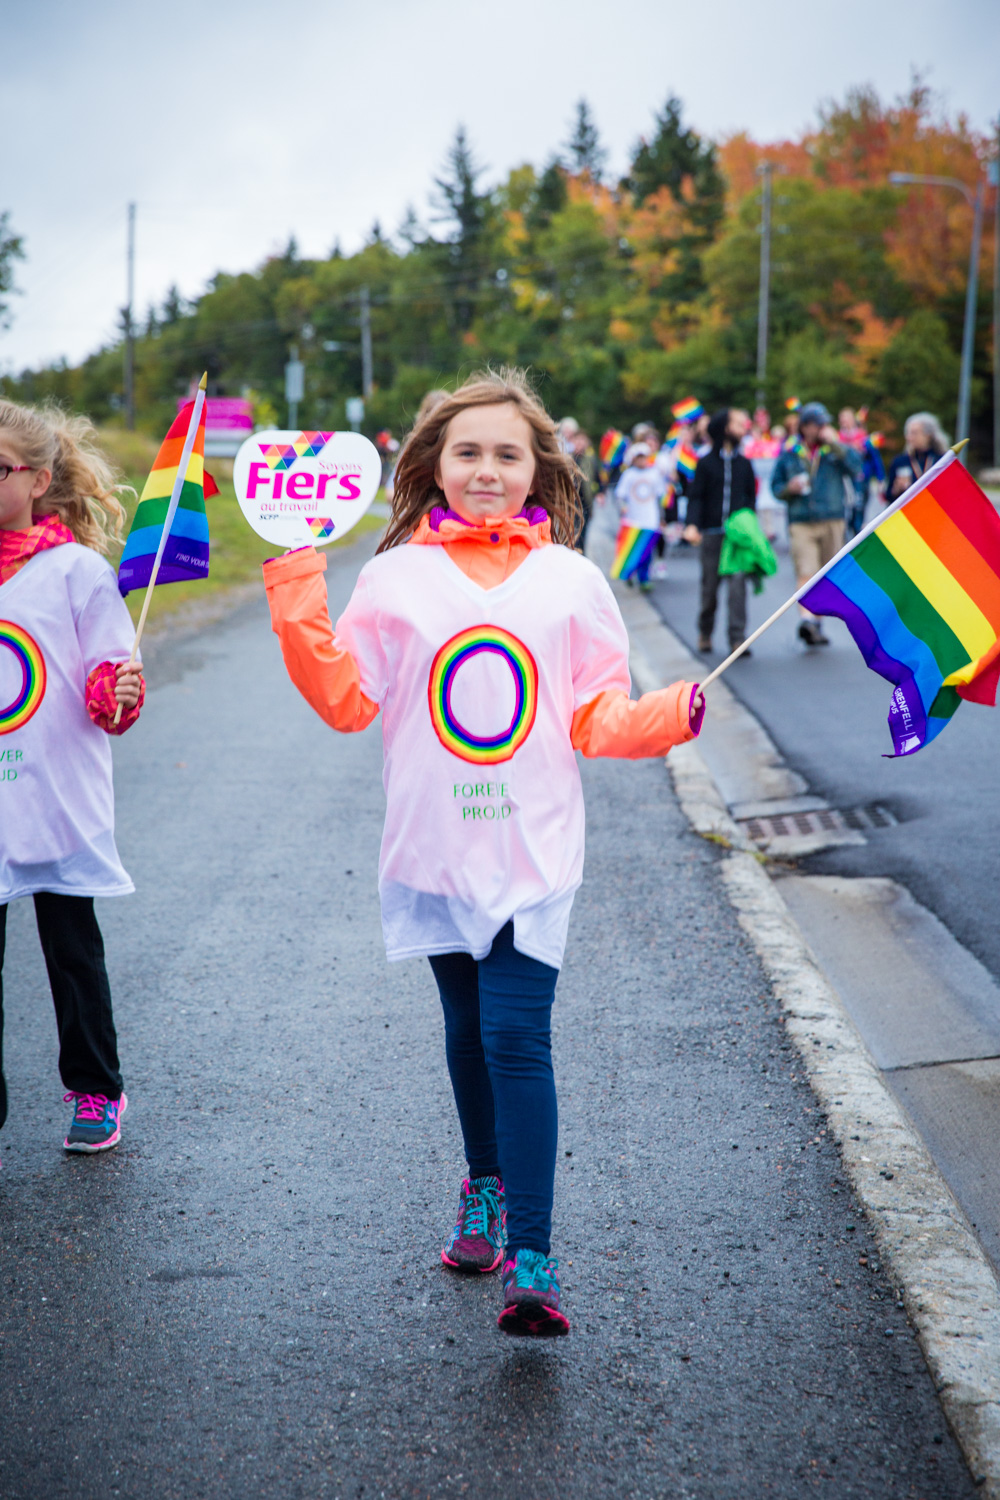
<path fill-rule="evenodd" d="M 799 436 L 780 454 L 771 476 L 772 494 L 789 507 L 789 550 L 799 585 L 844 546 L 846 483 L 853 500 L 862 471 L 859 454 L 840 441 L 826 406 L 819 400 L 802 406 Z M 816 615 L 801 604 L 799 610 L 799 638 L 810 646 L 829 645 Z"/>

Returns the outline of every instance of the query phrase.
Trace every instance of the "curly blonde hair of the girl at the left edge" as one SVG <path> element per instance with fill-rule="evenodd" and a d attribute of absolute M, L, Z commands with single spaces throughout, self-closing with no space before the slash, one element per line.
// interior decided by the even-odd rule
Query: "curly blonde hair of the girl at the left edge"
<path fill-rule="evenodd" d="M 34 514 L 52 512 L 73 538 L 94 552 L 109 552 L 124 526 L 115 471 L 96 444 L 88 417 L 70 417 L 60 406 L 19 406 L 0 400 L 0 435 L 28 468 L 51 470 L 52 483 L 34 501 Z"/>

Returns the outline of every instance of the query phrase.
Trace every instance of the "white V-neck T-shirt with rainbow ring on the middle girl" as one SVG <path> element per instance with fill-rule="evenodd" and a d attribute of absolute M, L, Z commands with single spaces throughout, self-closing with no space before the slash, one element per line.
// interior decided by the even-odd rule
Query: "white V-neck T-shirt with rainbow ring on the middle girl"
<path fill-rule="evenodd" d="M 394 548 L 336 626 L 382 710 L 379 858 L 390 958 L 514 946 L 559 968 L 583 876 L 573 714 L 628 692 L 628 636 L 603 574 L 538 548 L 484 590 L 444 548 Z"/>

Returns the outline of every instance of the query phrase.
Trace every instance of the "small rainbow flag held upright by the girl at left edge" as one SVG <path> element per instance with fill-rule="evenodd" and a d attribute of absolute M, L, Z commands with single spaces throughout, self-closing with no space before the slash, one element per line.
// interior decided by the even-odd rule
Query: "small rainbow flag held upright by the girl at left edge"
<path fill-rule="evenodd" d="M 156 462 L 150 470 L 139 504 L 132 519 L 132 528 L 118 562 L 118 588 L 127 594 L 133 588 L 145 588 L 153 572 L 153 560 L 163 532 L 169 510 L 174 480 L 183 458 L 184 440 L 190 426 L 195 402 L 189 400 L 174 417 L 169 432 L 160 444 Z M 177 501 L 169 536 L 163 548 L 157 584 L 178 584 L 189 578 L 208 576 L 208 518 L 205 496 L 219 494 L 211 474 L 205 474 L 205 405 L 202 399 L 201 420 L 187 460 L 184 483 Z"/>

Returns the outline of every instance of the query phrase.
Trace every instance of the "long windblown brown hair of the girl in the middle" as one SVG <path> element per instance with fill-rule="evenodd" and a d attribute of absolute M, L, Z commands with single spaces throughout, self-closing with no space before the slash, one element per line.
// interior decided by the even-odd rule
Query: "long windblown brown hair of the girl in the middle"
<path fill-rule="evenodd" d="M 583 525 L 583 507 L 576 486 L 576 465 L 561 446 L 556 426 L 519 369 L 481 370 L 465 386 L 442 399 L 423 416 L 417 417 L 399 454 L 393 480 L 393 513 L 378 550 L 387 552 L 406 542 L 417 530 L 420 518 L 435 506 L 447 506 L 438 488 L 435 470 L 444 448 L 448 423 L 469 406 L 496 406 L 510 402 L 525 417 L 531 428 L 531 446 L 535 456 L 535 478 L 531 500 L 547 510 L 552 520 L 552 540 L 574 548 Z"/>

